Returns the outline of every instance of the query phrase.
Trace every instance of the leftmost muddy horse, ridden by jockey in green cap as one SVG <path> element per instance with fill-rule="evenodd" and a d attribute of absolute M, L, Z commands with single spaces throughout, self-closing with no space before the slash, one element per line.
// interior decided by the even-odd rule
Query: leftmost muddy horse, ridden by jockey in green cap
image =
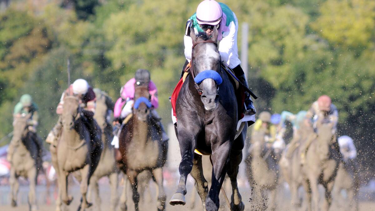
<path fill-rule="evenodd" d="M 37 210 L 35 187 L 37 177 L 37 154 L 38 149 L 33 140 L 31 132 L 27 129 L 27 120 L 30 116 L 15 118 L 13 122 L 13 139 L 18 140 L 15 145 L 12 160 L 10 161 L 10 193 L 12 195 L 12 206 L 17 206 L 17 194 L 20 184 L 18 178 L 23 176 L 30 182 L 28 192 L 28 203 L 30 210 Z"/>

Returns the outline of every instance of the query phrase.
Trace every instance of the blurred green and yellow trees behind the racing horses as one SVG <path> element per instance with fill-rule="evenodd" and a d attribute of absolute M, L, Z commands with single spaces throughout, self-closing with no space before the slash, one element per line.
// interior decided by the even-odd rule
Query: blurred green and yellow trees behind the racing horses
<path fill-rule="evenodd" d="M 151 71 L 164 124 L 184 63 L 183 33 L 200 0 L 14 0 L 0 12 L 0 137 L 12 131 L 23 93 L 39 105 L 46 136 L 67 86 L 83 77 L 115 100 L 138 68 Z M 262 110 L 297 113 L 327 94 L 339 109 L 339 135 L 355 139 L 374 169 L 375 2 L 223 0 L 250 24 L 249 83 Z M 239 41 L 241 40 L 239 33 Z M 241 49 L 240 49 L 241 50 Z"/>

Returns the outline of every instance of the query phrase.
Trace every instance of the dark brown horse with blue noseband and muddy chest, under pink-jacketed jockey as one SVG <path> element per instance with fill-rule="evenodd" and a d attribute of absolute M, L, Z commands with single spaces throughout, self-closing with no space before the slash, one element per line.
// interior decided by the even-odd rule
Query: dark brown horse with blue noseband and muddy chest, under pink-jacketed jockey
<path fill-rule="evenodd" d="M 168 142 L 162 142 L 160 128 L 151 117 L 149 99 L 150 93 L 146 86 L 135 87 L 133 116 L 123 125 L 119 137 L 121 160 L 118 164 L 132 185 L 136 211 L 139 210 L 137 175 L 144 170 L 152 173 L 159 189 L 157 210 L 165 210 L 162 167 L 166 162 Z"/>

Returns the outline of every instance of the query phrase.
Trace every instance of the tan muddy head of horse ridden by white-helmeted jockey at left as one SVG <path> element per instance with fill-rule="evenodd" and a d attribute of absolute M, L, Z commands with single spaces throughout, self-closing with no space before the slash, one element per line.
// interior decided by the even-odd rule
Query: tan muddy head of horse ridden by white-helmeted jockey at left
<path fill-rule="evenodd" d="M 64 98 L 63 113 L 61 121 L 65 130 L 71 130 L 74 122 L 79 118 L 79 100 L 76 96 L 66 96 Z"/>

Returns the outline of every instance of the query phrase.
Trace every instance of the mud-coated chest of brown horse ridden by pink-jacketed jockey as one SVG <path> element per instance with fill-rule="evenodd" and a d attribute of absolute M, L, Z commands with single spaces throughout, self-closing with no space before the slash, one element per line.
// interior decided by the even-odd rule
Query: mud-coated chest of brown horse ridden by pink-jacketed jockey
<path fill-rule="evenodd" d="M 130 169 L 152 168 L 159 158 L 159 143 L 149 140 L 145 144 L 132 141 L 126 151 L 127 167 Z"/>

